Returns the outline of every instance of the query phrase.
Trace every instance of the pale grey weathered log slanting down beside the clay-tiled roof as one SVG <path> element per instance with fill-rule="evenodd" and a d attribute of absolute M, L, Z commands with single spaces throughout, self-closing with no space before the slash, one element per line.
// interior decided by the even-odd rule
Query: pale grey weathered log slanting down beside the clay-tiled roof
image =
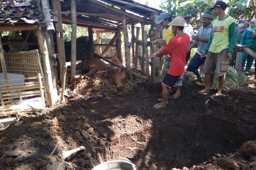
<path fill-rule="evenodd" d="M 51 21 L 51 14 L 50 14 L 50 5 L 48 0 L 41 0 L 42 8 L 43 8 L 43 16 L 45 21 L 45 27 L 48 34 L 55 33 L 55 29 L 53 26 L 53 22 Z"/>

